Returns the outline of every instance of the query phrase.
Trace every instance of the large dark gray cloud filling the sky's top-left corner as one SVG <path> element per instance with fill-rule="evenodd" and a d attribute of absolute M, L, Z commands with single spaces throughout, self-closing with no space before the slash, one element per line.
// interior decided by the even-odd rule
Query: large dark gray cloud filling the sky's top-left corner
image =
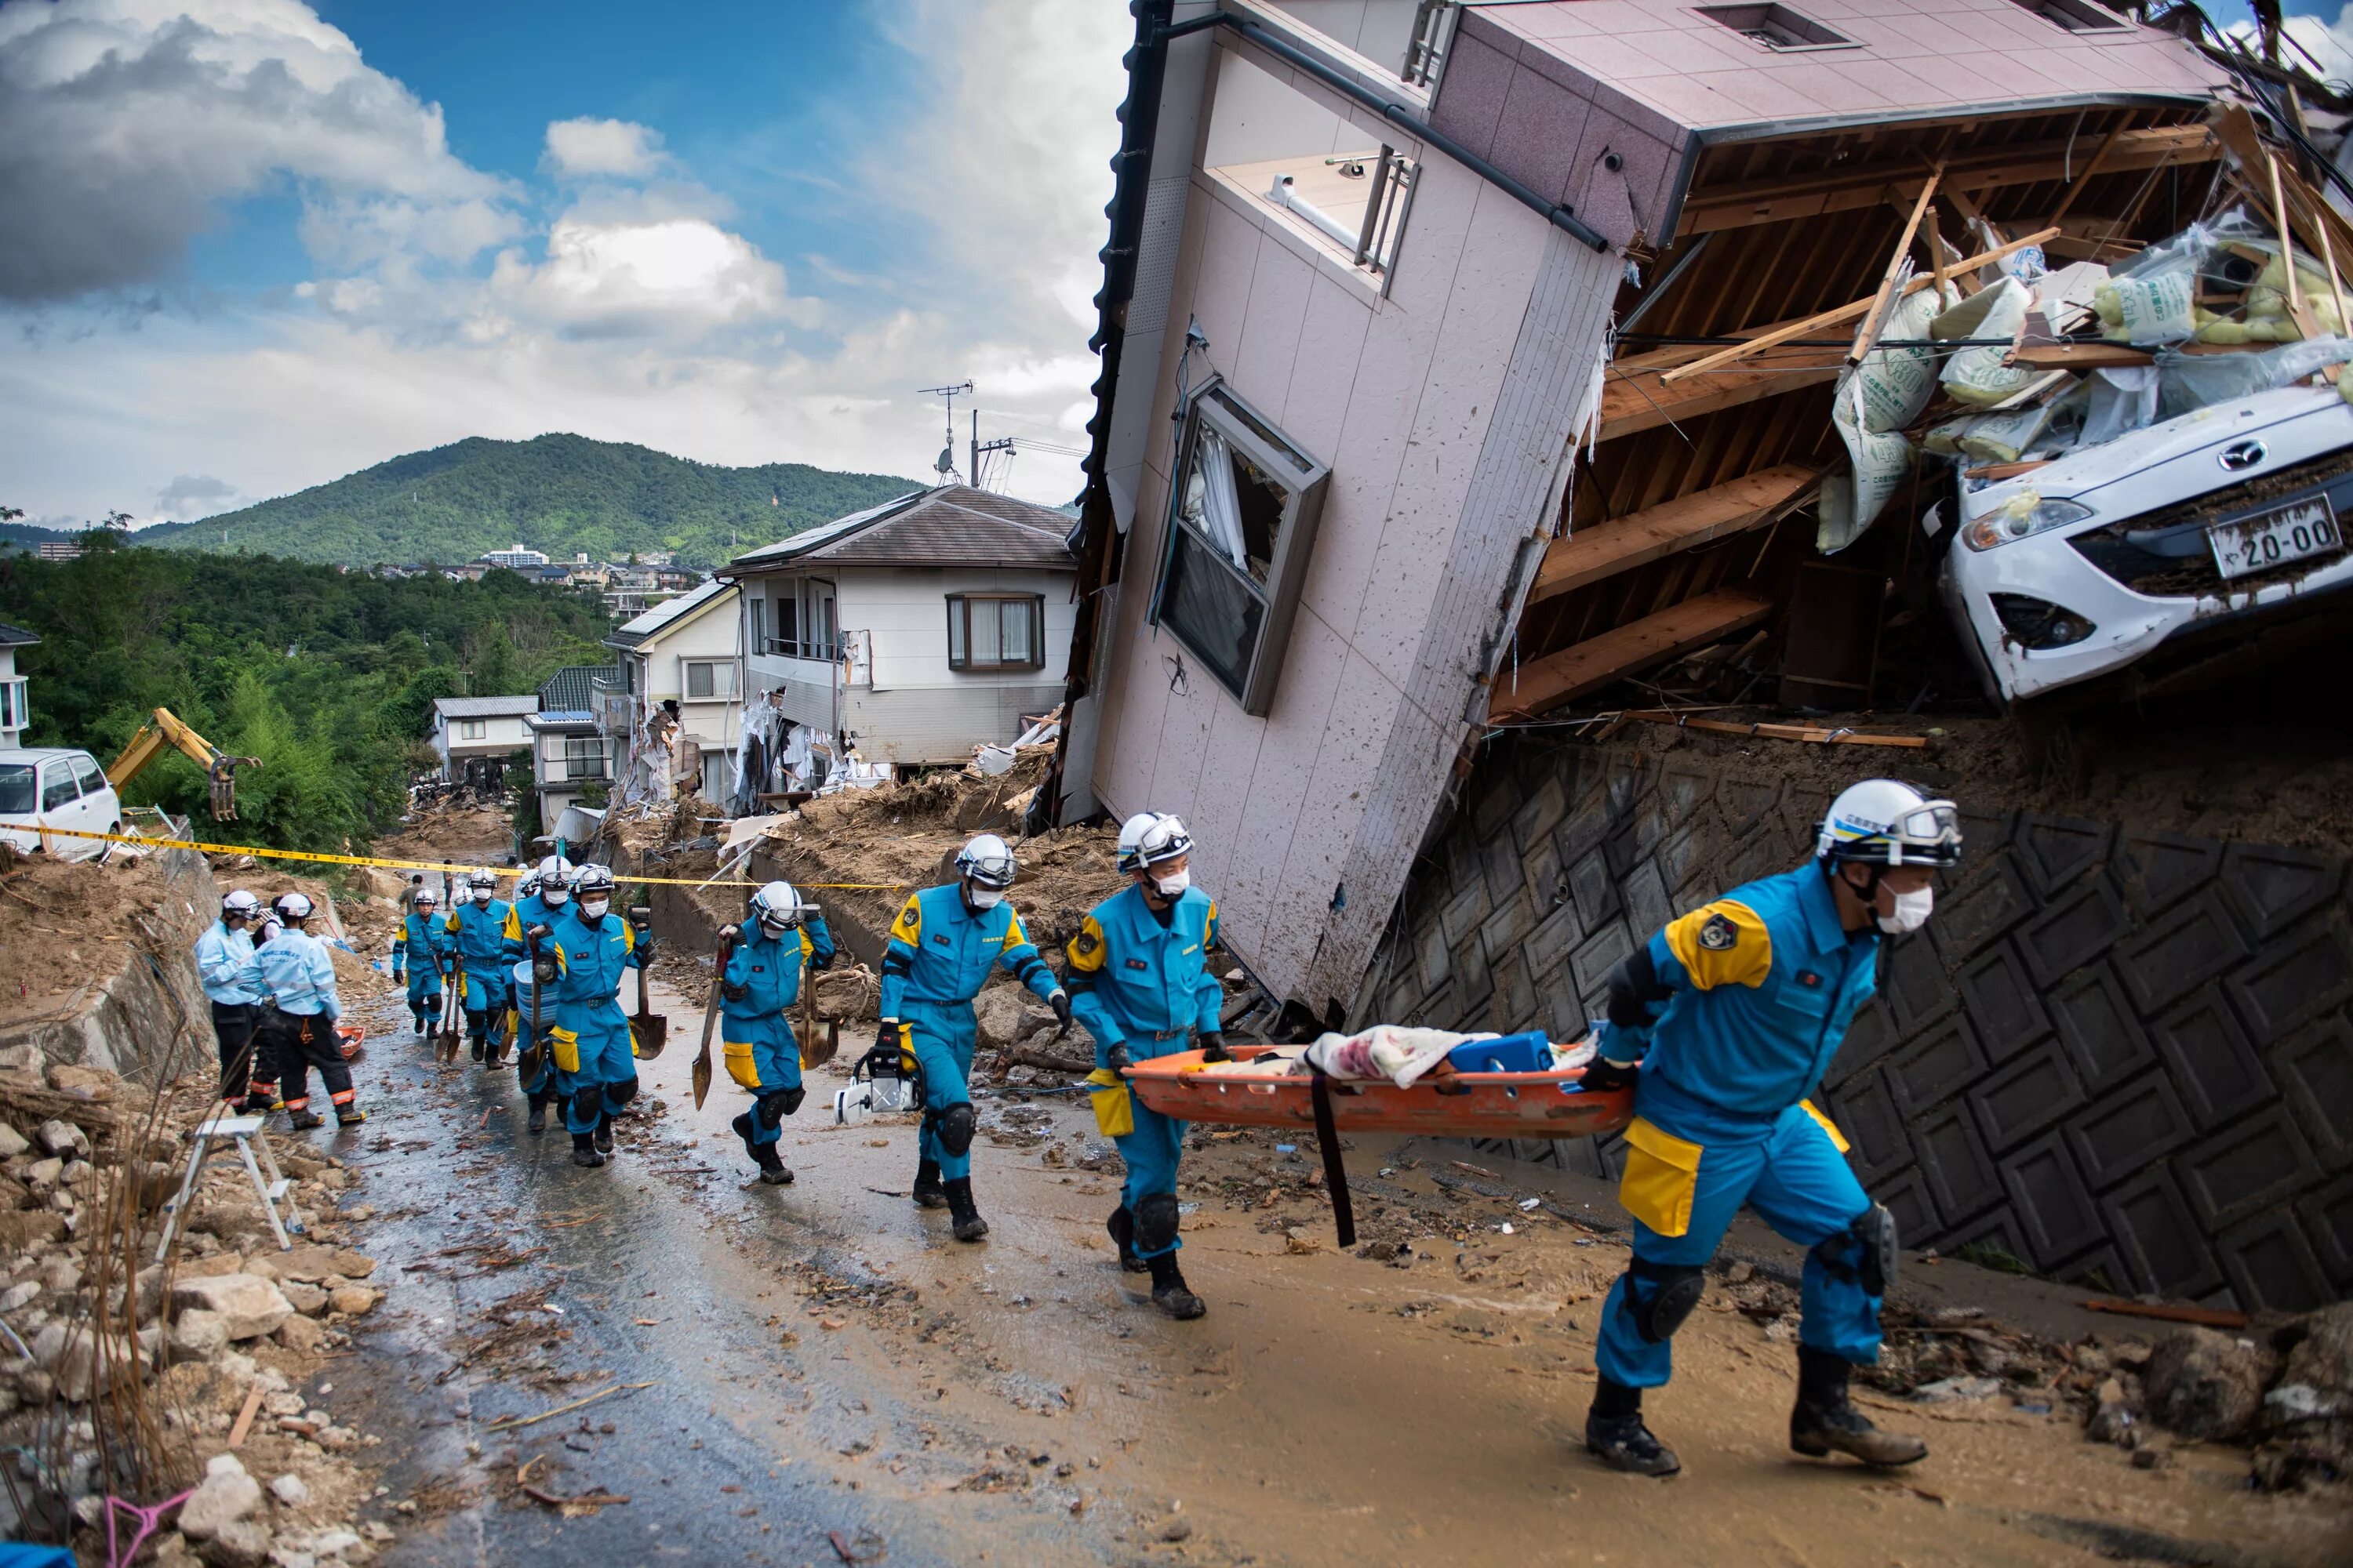
<path fill-rule="evenodd" d="M 440 108 L 306 5 L 0 5 L 0 299 L 169 280 L 221 202 L 285 181 L 327 252 L 405 228 L 464 259 L 515 233 L 504 183 L 449 153 Z"/>

